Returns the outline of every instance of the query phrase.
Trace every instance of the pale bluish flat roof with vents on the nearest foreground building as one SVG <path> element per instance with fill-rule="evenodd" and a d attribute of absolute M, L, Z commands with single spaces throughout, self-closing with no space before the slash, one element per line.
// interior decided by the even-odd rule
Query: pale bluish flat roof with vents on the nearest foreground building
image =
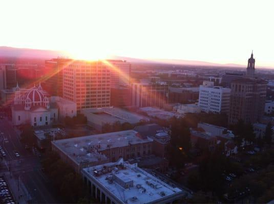
<path fill-rule="evenodd" d="M 103 169 L 108 169 L 103 170 Z M 111 170 L 112 169 L 112 170 Z M 95 173 L 94 171 L 98 173 Z M 150 173 L 137 167 L 137 164 L 123 162 L 108 163 L 82 169 L 92 180 L 100 183 L 110 194 L 120 200 L 120 203 L 161 203 L 162 199 L 172 196 L 183 196 L 183 190 L 172 187 L 157 179 Z M 116 181 L 131 183 L 130 188 L 123 188 Z"/>

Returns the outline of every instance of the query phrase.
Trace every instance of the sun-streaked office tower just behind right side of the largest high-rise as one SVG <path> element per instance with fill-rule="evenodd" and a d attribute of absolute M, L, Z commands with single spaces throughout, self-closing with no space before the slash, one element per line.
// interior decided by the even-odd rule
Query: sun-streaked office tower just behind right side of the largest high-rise
<path fill-rule="evenodd" d="M 111 70 L 111 88 L 129 87 L 131 80 L 131 63 L 125 60 L 107 60 Z"/>

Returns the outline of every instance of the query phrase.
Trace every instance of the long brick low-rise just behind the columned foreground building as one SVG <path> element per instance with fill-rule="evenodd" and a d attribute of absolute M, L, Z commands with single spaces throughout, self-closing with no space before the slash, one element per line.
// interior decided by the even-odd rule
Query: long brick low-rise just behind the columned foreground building
<path fill-rule="evenodd" d="M 55 140 L 52 150 L 79 172 L 82 168 L 115 162 L 119 158 L 128 160 L 151 155 L 152 142 L 151 138 L 129 130 Z"/>

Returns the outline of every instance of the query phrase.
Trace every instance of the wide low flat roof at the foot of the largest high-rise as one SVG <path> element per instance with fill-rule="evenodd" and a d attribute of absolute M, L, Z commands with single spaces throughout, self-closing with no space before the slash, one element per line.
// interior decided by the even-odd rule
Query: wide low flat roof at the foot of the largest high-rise
<path fill-rule="evenodd" d="M 121 123 L 129 122 L 135 124 L 140 120 L 150 120 L 148 117 L 113 107 L 81 109 L 80 112 L 87 116 L 88 121 L 97 120 L 104 123 L 120 121 Z"/>

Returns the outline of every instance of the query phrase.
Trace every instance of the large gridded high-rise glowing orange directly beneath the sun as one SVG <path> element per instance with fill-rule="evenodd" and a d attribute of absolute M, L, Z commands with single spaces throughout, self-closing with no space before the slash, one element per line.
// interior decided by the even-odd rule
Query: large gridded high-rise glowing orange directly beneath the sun
<path fill-rule="evenodd" d="M 77 110 L 110 106 L 110 68 L 103 61 L 70 60 L 63 67 L 63 97 Z"/>

